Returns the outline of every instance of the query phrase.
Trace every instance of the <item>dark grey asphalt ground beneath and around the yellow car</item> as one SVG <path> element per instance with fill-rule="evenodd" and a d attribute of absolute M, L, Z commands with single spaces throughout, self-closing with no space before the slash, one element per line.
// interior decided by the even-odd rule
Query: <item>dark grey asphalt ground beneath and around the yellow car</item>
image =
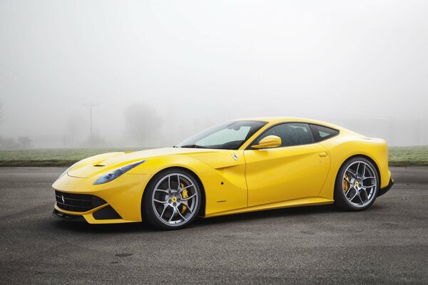
<path fill-rule="evenodd" d="M 428 167 L 365 212 L 197 219 L 158 232 L 51 217 L 62 168 L 0 168 L 0 284 L 428 284 Z"/>

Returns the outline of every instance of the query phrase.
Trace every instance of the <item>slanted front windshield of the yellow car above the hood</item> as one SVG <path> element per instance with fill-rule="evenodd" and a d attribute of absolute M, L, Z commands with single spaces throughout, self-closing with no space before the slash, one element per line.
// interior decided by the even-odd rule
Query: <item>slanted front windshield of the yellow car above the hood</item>
<path fill-rule="evenodd" d="M 203 130 L 181 142 L 176 147 L 214 148 L 238 150 L 243 143 L 255 134 L 266 122 L 255 120 L 236 120 Z"/>

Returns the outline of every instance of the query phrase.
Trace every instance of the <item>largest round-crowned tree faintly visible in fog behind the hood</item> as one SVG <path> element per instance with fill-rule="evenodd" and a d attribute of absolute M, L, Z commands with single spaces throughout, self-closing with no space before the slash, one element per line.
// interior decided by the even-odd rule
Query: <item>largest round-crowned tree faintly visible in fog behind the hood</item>
<path fill-rule="evenodd" d="M 126 132 L 139 146 L 155 146 L 162 120 L 151 106 L 136 103 L 125 110 Z"/>

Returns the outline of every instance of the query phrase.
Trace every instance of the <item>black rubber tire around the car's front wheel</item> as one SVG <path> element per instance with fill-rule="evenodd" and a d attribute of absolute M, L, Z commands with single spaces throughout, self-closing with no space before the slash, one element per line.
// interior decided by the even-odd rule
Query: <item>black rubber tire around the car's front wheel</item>
<path fill-rule="evenodd" d="M 178 182 L 176 181 L 180 181 L 180 184 L 183 181 L 187 183 L 189 182 L 192 183 L 194 186 L 193 187 L 189 186 L 187 189 L 189 191 L 191 190 L 192 195 L 195 194 L 196 198 L 193 197 L 192 200 L 183 202 L 183 200 L 187 198 L 183 196 L 183 192 L 180 193 L 178 191 L 171 194 L 167 192 L 163 193 L 163 190 L 156 190 L 156 185 L 158 185 L 158 189 L 159 187 L 161 187 L 161 185 L 165 187 L 164 185 L 165 177 L 170 177 L 170 181 L 169 182 L 167 181 L 166 183 L 170 183 L 169 187 L 171 190 L 173 189 L 178 190 L 178 189 L 175 189 L 177 188 L 177 185 L 179 185 Z M 175 178 L 175 181 L 174 181 L 173 177 L 178 177 L 178 179 Z M 166 229 L 166 230 L 183 229 L 183 227 L 188 227 L 188 225 L 191 224 L 193 220 L 198 216 L 200 205 L 202 204 L 202 195 L 201 195 L 200 189 L 201 187 L 196 177 L 192 173 L 186 170 L 183 170 L 181 168 L 170 168 L 168 170 L 163 170 L 159 172 L 148 183 L 146 190 L 144 191 L 143 201 L 141 203 L 141 215 L 143 218 L 143 222 L 147 221 L 153 227 L 156 227 L 158 229 Z M 156 193 L 153 194 L 153 192 L 155 191 Z M 168 191 L 168 188 L 167 188 L 167 191 Z M 174 196 L 175 194 L 177 194 L 178 196 L 175 197 Z M 158 197 L 161 197 L 161 198 L 158 198 L 156 195 L 158 195 Z M 171 199 L 174 199 L 174 197 L 175 197 L 175 202 L 171 201 Z M 163 203 L 153 202 L 153 199 L 155 199 L 155 201 L 159 199 L 163 201 Z M 190 204 L 190 202 L 194 204 Z M 184 204 L 184 203 L 187 203 L 187 204 Z M 178 206 L 175 206 L 175 204 L 178 204 Z M 162 207 L 164 207 L 164 209 Z M 179 207 L 181 208 L 179 209 Z M 161 212 L 162 209 L 163 209 L 163 212 Z M 192 212 L 192 214 L 190 214 L 190 212 Z M 175 218 L 178 218 L 180 220 L 183 219 L 183 222 L 178 222 L 177 224 L 169 224 L 168 221 L 163 219 L 163 217 L 165 217 L 165 215 L 167 214 L 170 214 L 169 217 L 173 219 L 171 222 L 174 222 Z M 185 217 L 188 217 L 188 219 L 185 219 Z"/>

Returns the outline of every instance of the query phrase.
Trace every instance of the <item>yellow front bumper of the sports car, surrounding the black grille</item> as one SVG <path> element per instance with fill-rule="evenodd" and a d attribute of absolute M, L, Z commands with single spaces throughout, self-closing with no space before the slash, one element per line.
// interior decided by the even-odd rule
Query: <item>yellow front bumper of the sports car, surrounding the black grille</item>
<path fill-rule="evenodd" d="M 78 220 L 83 217 L 90 224 L 141 222 L 141 199 L 151 176 L 124 174 L 111 182 L 93 185 L 93 178 L 63 175 L 52 185 L 57 191 L 56 194 L 61 197 L 58 200 L 58 195 L 56 195 L 52 215 L 67 220 Z M 81 207 L 81 204 L 66 207 L 66 204 L 69 206 L 70 201 L 72 202 L 74 199 L 73 196 L 81 199 L 80 197 L 88 195 L 101 198 L 103 203 L 96 204 L 90 209 Z M 62 199 L 67 201 L 66 204 L 63 204 Z M 81 210 L 78 211 L 78 209 Z"/>

